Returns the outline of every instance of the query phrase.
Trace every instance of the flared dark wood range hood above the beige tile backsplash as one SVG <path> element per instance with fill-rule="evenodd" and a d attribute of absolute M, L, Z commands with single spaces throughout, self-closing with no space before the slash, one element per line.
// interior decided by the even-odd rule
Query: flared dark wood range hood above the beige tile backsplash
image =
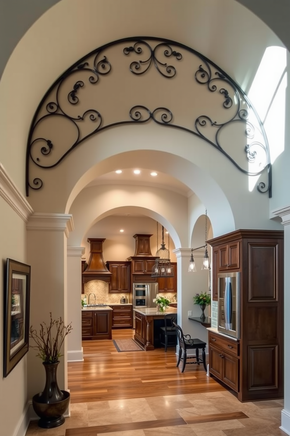
<path fill-rule="evenodd" d="M 112 273 L 107 269 L 103 259 L 103 242 L 106 238 L 88 238 L 90 242 L 90 259 L 86 269 L 82 272 L 82 283 L 90 280 L 103 280 L 110 283 Z"/>

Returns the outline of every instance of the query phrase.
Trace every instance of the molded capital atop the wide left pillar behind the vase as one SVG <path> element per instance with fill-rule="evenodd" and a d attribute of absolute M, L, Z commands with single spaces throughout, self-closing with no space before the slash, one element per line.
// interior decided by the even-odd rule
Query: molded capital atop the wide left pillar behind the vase
<path fill-rule="evenodd" d="M 47 214 L 36 212 L 29 217 L 27 230 L 53 230 L 65 232 L 67 238 L 73 231 L 73 215 L 71 214 Z"/>

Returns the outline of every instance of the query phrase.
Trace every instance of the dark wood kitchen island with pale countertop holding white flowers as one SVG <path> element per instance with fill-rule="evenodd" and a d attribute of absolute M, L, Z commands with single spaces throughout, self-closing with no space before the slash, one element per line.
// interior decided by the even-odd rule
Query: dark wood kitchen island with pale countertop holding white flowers
<path fill-rule="evenodd" d="M 139 342 L 145 351 L 154 350 L 154 342 L 159 338 L 159 329 L 164 325 L 165 313 L 177 313 L 175 307 L 168 307 L 166 312 L 160 312 L 156 307 L 140 307 L 135 310 L 135 341 Z M 154 321 L 155 325 L 154 325 Z M 155 327 L 155 328 L 154 328 Z"/>

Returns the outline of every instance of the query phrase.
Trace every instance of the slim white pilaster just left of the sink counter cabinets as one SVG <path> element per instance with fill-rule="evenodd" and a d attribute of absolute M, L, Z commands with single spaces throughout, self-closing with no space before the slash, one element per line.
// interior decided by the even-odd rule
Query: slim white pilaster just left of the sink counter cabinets
<path fill-rule="evenodd" d="M 67 361 L 83 361 L 81 315 L 81 258 L 83 247 L 67 247 L 67 319 L 73 330 L 67 337 Z"/>

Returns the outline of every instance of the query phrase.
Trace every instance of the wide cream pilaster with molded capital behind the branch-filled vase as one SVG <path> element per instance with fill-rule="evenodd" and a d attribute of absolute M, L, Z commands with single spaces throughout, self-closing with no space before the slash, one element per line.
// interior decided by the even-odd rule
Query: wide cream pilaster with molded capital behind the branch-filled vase
<path fill-rule="evenodd" d="M 30 325 L 39 330 L 40 323 L 67 319 L 67 237 L 73 230 L 72 215 L 34 213 L 27 222 L 27 263 L 31 265 Z M 30 345 L 33 341 L 30 340 Z M 67 338 L 62 347 L 57 381 L 67 389 Z M 30 349 L 27 358 L 28 398 L 42 392 L 45 371 L 37 351 Z"/>

